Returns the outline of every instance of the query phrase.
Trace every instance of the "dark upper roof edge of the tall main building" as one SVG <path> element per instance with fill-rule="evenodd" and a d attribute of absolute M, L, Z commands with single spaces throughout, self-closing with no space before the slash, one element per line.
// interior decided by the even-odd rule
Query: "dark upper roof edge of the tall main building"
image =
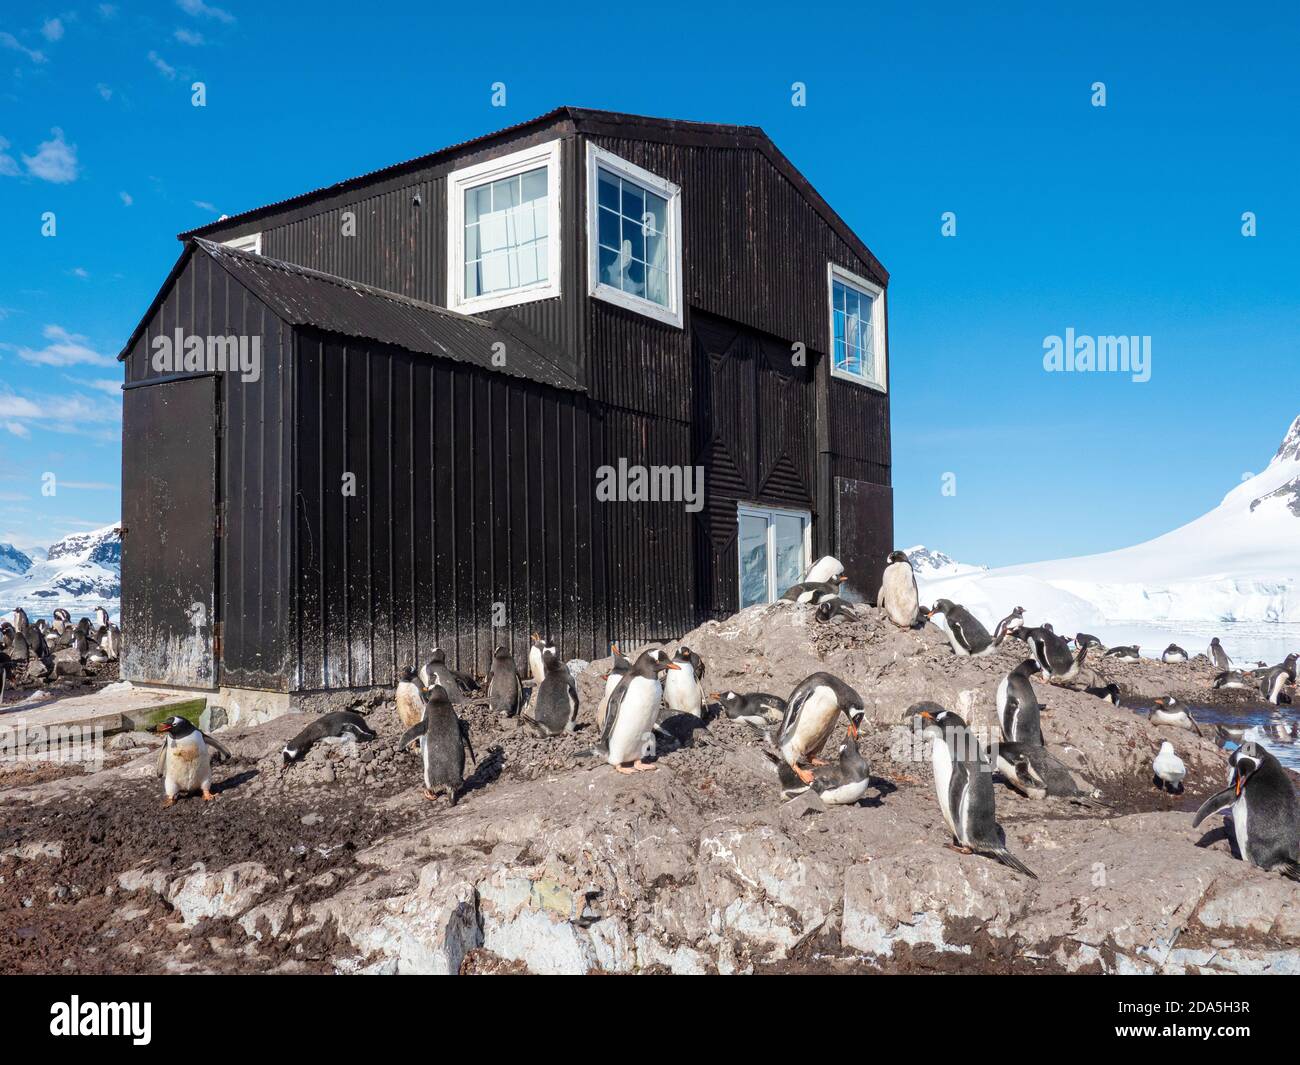
<path fill-rule="evenodd" d="M 333 185 L 300 192 L 296 196 L 277 200 L 274 203 L 255 207 L 238 215 L 218 218 L 214 222 L 198 226 L 178 234 L 178 239 L 186 241 L 191 237 L 205 237 L 214 233 L 226 233 L 237 226 L 256 221 L 268 215 L 281 213 L 298 207 L 304 207 L 316 200 L 328 199 L 348 192 L 354 189 L 373 185 L 378 181 L 399 178 L 407 173 L 426 169 L 438 163 L 447 161 L 467 150 L 486 147 L 493 140 L 512 137 L 528 129 L 545 129 L 558 122 L 568 121 L 573 129 L 592 135 L 628 137 L 630 139 L 666 140 L 673 143 L 696 143 L 716 147 L 750 148 L 764 155 L 781 174 L 800 191 L 800 194 L 812 205 L 823 220 L 835 229 L 841 238 L 853 248 L 863 261 L 868 263 L 872 272 L 885 283 L 889 281 L 889 272 L 862 238 L 854 233 L 848 222 L 841 218 L 835 208 L 828 204 L 812 187 L 811 182 L 800 173 L 776 147 L 772 139 L 758 126 L 734 126 L 716 122 L 692 122 L 681 118 L 653 118 L 642 114 L 627 114 L 615 111 L 595 111 L 592 108 L 558 107 L 536 118 L 517 122 L 514 126 L 494 130 L 493 133 L 463 140 L 459 144 L 450 144 L 428 155 L 416 156 L 404 163 L 395 163 L 391 166 L 382 166 L 378 170 L 347 178 Z"/>

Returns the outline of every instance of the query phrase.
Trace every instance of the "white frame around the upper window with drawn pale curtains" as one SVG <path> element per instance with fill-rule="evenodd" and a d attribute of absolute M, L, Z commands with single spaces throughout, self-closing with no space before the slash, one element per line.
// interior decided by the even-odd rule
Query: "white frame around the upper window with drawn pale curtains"
<path fill-rule="evenodd" d="M 465 298 L 465 192 L 525 170 L 546 166 L 546 281 L 519 289 Z M 547 140 L 533 148 L 463 166 L 447 176 L 447 307 L 472 315 L 494 307 L 514 307 L 560 294 L 560 142 Z"/>

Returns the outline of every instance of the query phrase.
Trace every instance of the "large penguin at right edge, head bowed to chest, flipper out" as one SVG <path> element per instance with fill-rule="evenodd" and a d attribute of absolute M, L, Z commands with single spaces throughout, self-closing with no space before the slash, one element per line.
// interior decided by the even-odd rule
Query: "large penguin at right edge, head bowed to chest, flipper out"
<path fill-rule="evenodd" d="M 1287 771 L 1256 743 L 1242 744 L 1227 761 L 1232 767 L 1227 788 L 1201 804 L 1192 827 L 1231 804 L 1242 861 L 1300 880 L 1300 804 Z"/>

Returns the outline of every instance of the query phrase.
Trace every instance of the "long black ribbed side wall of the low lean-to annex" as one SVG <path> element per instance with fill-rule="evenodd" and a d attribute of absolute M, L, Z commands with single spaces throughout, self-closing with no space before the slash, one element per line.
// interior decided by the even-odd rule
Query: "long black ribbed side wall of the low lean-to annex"
<path fill-rule="evenodd" d="M 296 365 L 295 688 L 393 684 L 434 645 L 481 672 L 534 629 L 604 653 L 581 397 L 309 329 Z"/>

